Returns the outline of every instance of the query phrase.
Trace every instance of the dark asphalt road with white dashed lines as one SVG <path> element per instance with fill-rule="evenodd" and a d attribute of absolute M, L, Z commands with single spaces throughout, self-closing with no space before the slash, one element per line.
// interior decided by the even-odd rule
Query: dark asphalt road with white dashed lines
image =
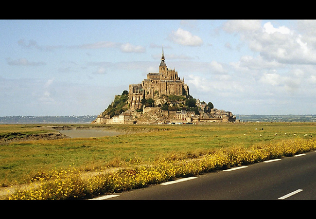
<path fill-rule="evenodd" d="M 217 171 L 98 200 L 316 200 L 316 152 Z"/>

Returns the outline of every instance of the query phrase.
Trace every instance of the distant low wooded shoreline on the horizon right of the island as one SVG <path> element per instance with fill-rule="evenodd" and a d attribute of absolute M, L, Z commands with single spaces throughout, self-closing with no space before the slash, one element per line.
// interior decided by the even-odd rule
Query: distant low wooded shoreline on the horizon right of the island
<path fill-rule="evenodd" d="M 316 122 L 316 115 L 236 115 L 243 122 Z"/>

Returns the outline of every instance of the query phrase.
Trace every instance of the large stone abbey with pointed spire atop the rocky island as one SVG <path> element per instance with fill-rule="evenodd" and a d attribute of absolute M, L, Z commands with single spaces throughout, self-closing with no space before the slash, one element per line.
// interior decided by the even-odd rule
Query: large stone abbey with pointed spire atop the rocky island
<path fill-rule="evenodd" d="M 169 70 L 165 63 L 163 54 L 159 65 L 159 73 L 148 73 L 147 78 L 140 84 L 130 84 L 128 91 L 128 102 L 130 110 L 137 110 L 141 107 L 143 98 L 155 99 L 155 96 L 170 94 L 177 96 L 190 95 L 189 86 L 184 83 L 184 78 L 181 80 L 176 70 Z"/>

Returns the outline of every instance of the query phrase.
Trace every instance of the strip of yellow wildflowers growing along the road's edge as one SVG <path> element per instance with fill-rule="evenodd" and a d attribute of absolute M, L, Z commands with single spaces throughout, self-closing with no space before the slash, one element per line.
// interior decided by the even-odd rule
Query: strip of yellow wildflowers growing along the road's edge
<path fill-rule="evenodd" d="M 174 158 L 157 159 L 132 165 L 116 172 L 102 172 L 83 178 L 74 167 L 54 169 L 40 173 L 33 180 L 38 183 L 32 189 L 17 190 L 8 196 L 9 200 L 73 200 L 89 199 L 106 193 L 117 193 L 163 183 L 181 177 L 194 176 L 206 172 L 225 169 L 243 164 L 253 164 L 265 160 L 292 156 L 316 149 L 314 139 L 287 139 L 265 145 L 249 147 L 233 146 L 218 148 L 209 155 L 197 159 Z"/>

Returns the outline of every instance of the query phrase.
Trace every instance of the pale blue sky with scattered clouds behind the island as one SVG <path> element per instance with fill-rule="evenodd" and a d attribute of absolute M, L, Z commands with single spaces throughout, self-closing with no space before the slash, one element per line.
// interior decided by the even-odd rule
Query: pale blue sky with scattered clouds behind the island
<path fill-rule="evenodd" d="M 316 114 L 316 20 L 0 20 L 0 116 L 97 115 L 158 72 L 234 114 Z"/>

